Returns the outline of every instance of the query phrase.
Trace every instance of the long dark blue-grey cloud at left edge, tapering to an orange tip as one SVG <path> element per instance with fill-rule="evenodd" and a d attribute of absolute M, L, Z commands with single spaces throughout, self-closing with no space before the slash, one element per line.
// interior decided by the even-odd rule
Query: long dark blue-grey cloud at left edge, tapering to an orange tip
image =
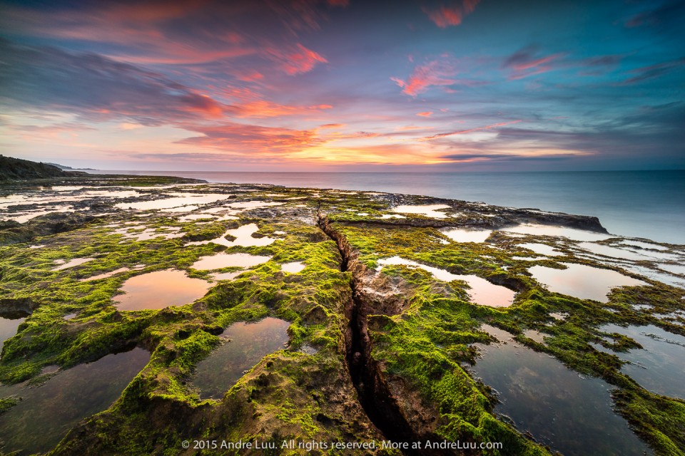
<path fill-rule="evenodd" d="M 81 119 L 142 125 L 216 119 L 233 107 L 158 73 L 92 53 L 17 46 L 0 39 L 0 96 L 13 108 L 66 111 Z"/>

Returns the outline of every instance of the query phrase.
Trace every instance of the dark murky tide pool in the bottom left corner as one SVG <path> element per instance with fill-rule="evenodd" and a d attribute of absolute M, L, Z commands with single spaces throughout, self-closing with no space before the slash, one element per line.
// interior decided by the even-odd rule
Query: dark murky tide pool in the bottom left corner
<path fill-rule="evenodd" d="M 36 388 L 25 383 L 0 387 L 0 396 L 22 398 L 0 415 L 4 452 L 51 450 L 83 418 L 109 408 L 149 359 L 150 353 L 134 348 L 60 372 Z"/>

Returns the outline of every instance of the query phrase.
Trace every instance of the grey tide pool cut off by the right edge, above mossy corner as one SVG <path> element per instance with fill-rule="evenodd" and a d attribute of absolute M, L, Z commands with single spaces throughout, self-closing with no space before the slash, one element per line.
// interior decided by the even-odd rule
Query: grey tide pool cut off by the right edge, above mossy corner
<path fill-rule="evenodd" d="M 623 334 L 644 348 L 633 348 L 626 353 L 610 352 L 632 363 L 621 368 L 623 373 L 654 393 L 685 399 L 685 337 L 654 325 L 624 328 L 609 324 L 599 331 Z M 603 347 L 596 348 L 607 351 Z"/>

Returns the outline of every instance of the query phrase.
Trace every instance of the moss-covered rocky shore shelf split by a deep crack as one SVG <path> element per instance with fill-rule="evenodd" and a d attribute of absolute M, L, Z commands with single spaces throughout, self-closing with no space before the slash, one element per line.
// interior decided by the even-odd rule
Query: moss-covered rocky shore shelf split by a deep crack
<path fill-rule="evenodd" d="M 466 368 L 494 342 L 483 325 L 611 385 L 615 413 L 650 451 L 685 451 L 683 400 L 627 375 L 620 353 L 639 344 L 602 329 L 654 325 L 685 335 L 683 246 L 614 237 L 596 217 L 412 195 L 137 176 L 14 181 L 0 195 L 0 316 L 26 318 L 4 343 L 0 382 L 59 378 L 125 347 L 151 353 L 108 410 L 68 426 L 54 454 L 190 455 L 183 440 L 248 438 L 278 447 L 375 441 L 368 452 L 379 455 L 559 450 L 549 433 L 545 447 L 526 423 L 500 415 L 507 398 Z M 460 242 L 450 229 L 492 233 Z M 393 257 L 405 264 L 385 261 Z M 243 258 L 259 261 L 224 261 Z M 630 285 L 584 299 L 582 283 L 557 293 L 533 274 L 569 265 Z M 133 278 L 170 269 L 208 290 L 173 306 L 118 306 Z M 479 304 L 455 276 L 514 299 Z M 264 318 L 287 322 L 285 345 L 244 370 L 225 366 L 238 380 L 208 378 L 220 387 L 205 399 L 193 378 L 231 343 L 223 331 Z M 0 410 L 16 405 L 0 400 Z M 382 448 L 383 440 L 410 447 Z M 466 446 L 422 446 L 457 440 Z M 504 446 L 470 446 L 487 442 Z"/>

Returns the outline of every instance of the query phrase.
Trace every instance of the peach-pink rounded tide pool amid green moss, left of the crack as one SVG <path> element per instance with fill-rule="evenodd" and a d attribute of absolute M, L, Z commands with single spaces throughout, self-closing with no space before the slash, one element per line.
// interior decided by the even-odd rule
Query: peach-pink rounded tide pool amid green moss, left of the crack
<path fill-rule="evenodd" d="M 113 301 L 119 310 L 138 311 L 183 306 L 205 295 L 212 286 L 208 281 L 191 279 L 178 269 L 150 272 L 133 276 L 123 282 Z"/>

